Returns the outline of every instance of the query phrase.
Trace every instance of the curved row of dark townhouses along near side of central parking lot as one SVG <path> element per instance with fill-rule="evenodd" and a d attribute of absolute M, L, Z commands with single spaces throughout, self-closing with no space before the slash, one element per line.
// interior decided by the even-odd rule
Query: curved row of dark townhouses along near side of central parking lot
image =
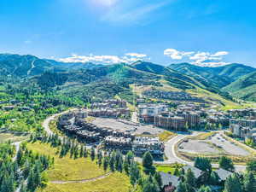
<path fill-rule="evenodd" d="M 58 119 L 58 128 L 81 142 L 102 143 L 104 148 L 116 148 L 124 152 L 132 150 L 135 154 L 144 154 L 148 150 L 154 155 L 164 154 L 164 143 L 158 137 L 136 137 L 130 131 L 100 127 L 87 122 L 84 119 L 87 115 L 82 110 L 65 113 Z"/>

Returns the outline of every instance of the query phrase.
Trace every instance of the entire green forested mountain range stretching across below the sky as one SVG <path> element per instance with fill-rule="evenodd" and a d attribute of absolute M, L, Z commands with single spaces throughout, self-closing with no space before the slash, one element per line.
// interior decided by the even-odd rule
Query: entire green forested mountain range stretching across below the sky
<path fill-rule="evenodd" d="M 2 76 L 29 79 L 43 89 L 87 99 L 119 95 L 131 100 L 131 85 L 138 84 L 142 89 L 184 90 L 195 95 L 203 93 L 206 97 L 211 93 L 230 100 L 230 96 L 235 96 L 256 101 L 256 69 L 236 63 L 223 67 L 198 67 L 189 63 L 164 67 L 146 61 L 99 65 L 2 54 L 0 66 Z"/>

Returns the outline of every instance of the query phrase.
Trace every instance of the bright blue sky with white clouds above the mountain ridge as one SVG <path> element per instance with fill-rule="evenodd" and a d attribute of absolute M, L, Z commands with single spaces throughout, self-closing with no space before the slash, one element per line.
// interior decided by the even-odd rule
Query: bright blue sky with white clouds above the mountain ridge
<path fill-rule="evenodd" d="M 3 0 L 0 52 L 256 67 L 253 0 Z"/>

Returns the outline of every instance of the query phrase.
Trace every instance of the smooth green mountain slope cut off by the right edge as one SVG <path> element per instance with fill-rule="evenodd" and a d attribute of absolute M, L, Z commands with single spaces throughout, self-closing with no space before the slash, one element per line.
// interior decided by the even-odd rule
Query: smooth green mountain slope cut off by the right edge
<path fill-rule="evenodd" d="M 223 88 L 232 96 L 256 102 L 256 72 L 249 73 Z"/>

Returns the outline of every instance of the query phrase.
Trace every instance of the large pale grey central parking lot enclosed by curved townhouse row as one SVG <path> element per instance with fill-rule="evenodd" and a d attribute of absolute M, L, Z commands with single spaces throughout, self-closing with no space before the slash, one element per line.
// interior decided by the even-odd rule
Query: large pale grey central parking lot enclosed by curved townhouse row
<path fill-rule="evenodd" d="M 158 135 L 163 131 L 154 125 L 141 125 L 124 119 L 96 118 L 91 123 L 99 127 L 108 127 L 116 131 L 130 131 L 136 135 Z"/>

